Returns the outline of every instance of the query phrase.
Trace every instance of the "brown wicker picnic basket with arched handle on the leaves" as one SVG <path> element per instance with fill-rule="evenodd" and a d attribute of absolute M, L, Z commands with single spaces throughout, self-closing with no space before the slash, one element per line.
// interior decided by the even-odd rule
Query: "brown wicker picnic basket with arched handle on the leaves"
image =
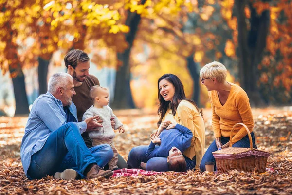
<path fill-rule="evenodd" d="M 232 148 L 232 133 L 236 126 L 245 127 L 249 140 L 250 148 Z M 266 171 L 267 160 L 270 153 L 253 148 L 253 141 L 247 126 L 237 123 L 233 126 L 230 134 L 229 148 L 218 150 L 212 153 L 216 159 L 217 172 L 227 173 L 229 170 L 244 172 L 256 171 L 262 173 Z"/>

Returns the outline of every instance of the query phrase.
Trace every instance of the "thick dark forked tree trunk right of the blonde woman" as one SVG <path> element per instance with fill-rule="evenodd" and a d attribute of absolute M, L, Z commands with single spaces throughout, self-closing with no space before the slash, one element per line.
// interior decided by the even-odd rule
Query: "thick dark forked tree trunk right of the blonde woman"
<path fill-rule="evenodd" d="M 257 87 L 259 73 L 257 66 L 262 60 L 263 50 L 266 47 L 267 32 L 269 30 L 269 11 L 260 16 L 250 5 L 250 31 L 247 29 L 244 8 L 247 0 L 236 0 L 236 14 L 238 25 L 238 51 L 240 85 L 246 91 L 252 106 L 263 106 L 264 101 Z"/>

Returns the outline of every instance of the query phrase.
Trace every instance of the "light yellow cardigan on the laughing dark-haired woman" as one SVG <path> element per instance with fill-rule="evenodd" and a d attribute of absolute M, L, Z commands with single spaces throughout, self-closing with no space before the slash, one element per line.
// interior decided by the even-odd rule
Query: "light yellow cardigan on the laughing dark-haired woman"
<path fill-rule="evenodd" d="M 176 121 L 180 125 L 190 129 L 193 133 L 191 146 L 187 148 L 183 155 L 190 159 L 196 156 L 195 169 L 199 169 L 202 157 L 205 152 L 205 125 L 204 120 L 198 112 L 197 108 L 187 100 L 182 100 L 177 108 L 175 116 L 171 114 L 171 109 L 168 109 L 164 120 Z"/>

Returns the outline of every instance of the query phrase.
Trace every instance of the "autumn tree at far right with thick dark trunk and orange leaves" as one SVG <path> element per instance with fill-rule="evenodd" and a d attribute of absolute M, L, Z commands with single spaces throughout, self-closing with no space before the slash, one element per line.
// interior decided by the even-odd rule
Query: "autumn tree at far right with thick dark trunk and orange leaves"
<path fill-rule="evenodd" d="M 221 3 L 222 17 L 229 27 L 235 26 L 233 43 L 239 57 L 240 85 L 251 104 L 261 106 L 263 99 L 276 104 L 291 101 L 288 46 L 291 1 L 222 0 Z"/>

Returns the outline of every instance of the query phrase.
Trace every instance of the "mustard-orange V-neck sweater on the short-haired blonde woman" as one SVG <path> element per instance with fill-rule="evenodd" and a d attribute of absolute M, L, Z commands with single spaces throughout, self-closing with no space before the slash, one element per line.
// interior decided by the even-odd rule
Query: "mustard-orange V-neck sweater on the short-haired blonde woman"
<path fill-rule="evenodd" d="M 209 92 L 215 138 L 221 136 L 230 137 L 232 127 L 238 122 L 245 124 L 250 132 L 254 128 L 254 118 L 247 94 L 238 85 L 229 84 L 231 85 L 230 93 L 223 106 L 219 101 L 217 91 Z M 246 135 L 247 132 L 244 127 L 237 126 L 233 131 L 232 143 L 236 143 Z"/>

